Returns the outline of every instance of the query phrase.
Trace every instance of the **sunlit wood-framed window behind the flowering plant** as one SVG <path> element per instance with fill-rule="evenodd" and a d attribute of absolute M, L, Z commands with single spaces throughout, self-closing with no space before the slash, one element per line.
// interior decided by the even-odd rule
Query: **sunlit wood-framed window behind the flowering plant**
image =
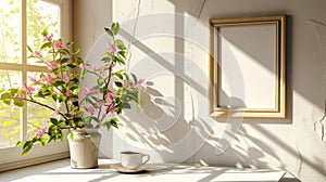
<path fill-rule="evenodd" d="M 63 37 L 65 41 L 71 40 L 71 0 L 0 1 L 0 88 L 20 87 L 22 82 L 28 83 L 28 76 L 48 70 L 47 67 L 38 65 L 36 60 L 28 58 L 27 44 L 39 48 L 42 42 L 40 32 L 45 27 L 54 36 Z M 15 148 L 15 143 L 35 134 L 37 128 L 47 123 L 50 115 L 50 110 L 35 104 L 27 103 L 26 107 L 18 108 L 1 102 L 0 162 L 12 164 L 15 159 L 30 160 L 66 153 L 66 144 L 57 142 L 47 147 L 36 147 L 30 155 L 18 156 L 21 151 Z M 10 155 L 7 157 L 5 154 Z"/>

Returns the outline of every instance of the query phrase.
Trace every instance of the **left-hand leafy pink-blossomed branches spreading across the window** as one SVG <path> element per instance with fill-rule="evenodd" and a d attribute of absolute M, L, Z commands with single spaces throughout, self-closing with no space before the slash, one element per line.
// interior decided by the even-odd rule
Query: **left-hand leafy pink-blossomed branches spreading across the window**
<path fill-rule="evenodd" d="M 83 67 L 85 62 L 77 56 L 79 49 L 72 50 L 72 42 L 63 44 L 61 39 L 53 39 L 53 35 L 48 34 L 48 29 L 41 32 L 43 42 L 41 47 L 34 51 L 27 47 L 30 56 L 37 63 L 48 67 L 48 73 L 40 73 L 36 77 L 28 77 L 30 83 L 22 84 L 22 88 L 4 90 L 1 100 L 5 104 L 25 106 L 25 102 L 30 102 L 39 106 L 55 112 L 58 118 L 50 118 L 49 126 L 40 129 L 32 139 L 17 142 L 23 145 L 22 154 L 26 154 L 33 144 L 39 142 L 41 145 L 51 141 L 63 140 L 63 129 L 83 128 L 83 113 L 78 104 L 79 76 L 72 74 L 72 69 Z M 52 107 L 41 102 L 39 99 L 53 101 L 62 107 Z"/>

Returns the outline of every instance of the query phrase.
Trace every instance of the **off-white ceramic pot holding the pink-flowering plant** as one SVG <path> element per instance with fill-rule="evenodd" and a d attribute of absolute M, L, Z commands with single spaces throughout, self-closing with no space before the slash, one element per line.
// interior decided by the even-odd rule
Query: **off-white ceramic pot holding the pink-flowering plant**
<path fill-rule="evenodd" d="M 71 167 L 76 169 L 97 168 L 102 138 L 98 129 L 76 129 L 71 132 L 73 138 L 67 135 Z"/>

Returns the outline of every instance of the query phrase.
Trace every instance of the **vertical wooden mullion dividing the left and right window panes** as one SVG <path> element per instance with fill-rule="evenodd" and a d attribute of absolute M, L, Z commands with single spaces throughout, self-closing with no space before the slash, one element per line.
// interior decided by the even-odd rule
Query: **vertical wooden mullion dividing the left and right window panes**
<path fill-rule="evenodd" d="M 22 82 L 27 81 L 27 0 L 22 0 Z M 27 104 L 27 103 L 26 103 Z M 27 106 L 22 108 L 21 140 L 27 135 Z"/>

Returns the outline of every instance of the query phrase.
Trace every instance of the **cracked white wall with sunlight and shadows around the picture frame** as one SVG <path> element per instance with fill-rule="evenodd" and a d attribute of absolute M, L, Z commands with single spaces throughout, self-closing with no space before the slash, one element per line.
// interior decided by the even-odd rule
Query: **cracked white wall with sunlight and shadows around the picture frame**
<path fill-rule="evenodd" d="M 74 5 L 75 42 L 84 56 L 99 47 L 104 26 L 120 22 L 126 40 L 139 39 L 130 46 L 128 68 L 149 81 L 142 107 L 126 112 L 114 133 L 102 131 L 102 155 L 117 158 L 120 151 L 136 148 L 150 153 L 152 161 L 284 169 L 301 181 L 326 181 L 326 143 L 321 128 L 314 130 L 325 100 L 326 50 L 308 22 L 326 24 L 326 1 L 75 0 Z M 205 24 L 214 17 L 275 14 L 288 15 L 287 118 L 214 121 L 206 110 Z"/>

